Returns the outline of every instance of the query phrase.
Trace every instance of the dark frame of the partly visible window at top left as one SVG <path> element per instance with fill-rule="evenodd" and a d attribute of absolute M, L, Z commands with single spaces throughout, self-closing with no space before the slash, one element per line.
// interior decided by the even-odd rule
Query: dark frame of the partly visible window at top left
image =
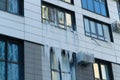
<path fill-rule="evenodd" d="M 1 11 L 5 11 L 11 14 L 15 14 L 18 16 L 24 16 L 24 0 L 18 0 L 18 13 L 14 13 L 8 10 L 8 0 L 5 0 L 5 10 L 4 9 L 0 9 Z"/>

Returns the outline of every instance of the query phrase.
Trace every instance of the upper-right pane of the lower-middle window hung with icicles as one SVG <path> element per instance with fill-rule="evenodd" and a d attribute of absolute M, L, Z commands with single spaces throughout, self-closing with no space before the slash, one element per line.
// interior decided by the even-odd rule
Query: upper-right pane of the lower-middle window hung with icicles
<path fill-rule="evenodd" d="M 70 64 L 69 64 L 69 59 L 68 55 L 65 53 L 62 53 L 62 71 L 63 72 L 70 72 Z"/>

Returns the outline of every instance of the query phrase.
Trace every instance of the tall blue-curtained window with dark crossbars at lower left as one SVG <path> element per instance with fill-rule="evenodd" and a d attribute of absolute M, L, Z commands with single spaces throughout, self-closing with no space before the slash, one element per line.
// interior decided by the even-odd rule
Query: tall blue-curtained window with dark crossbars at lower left
<path fill-rule="evenodd" d="M 22 56 L 21 43 L 0 37 L 0 80 L 24 80 Z"/>

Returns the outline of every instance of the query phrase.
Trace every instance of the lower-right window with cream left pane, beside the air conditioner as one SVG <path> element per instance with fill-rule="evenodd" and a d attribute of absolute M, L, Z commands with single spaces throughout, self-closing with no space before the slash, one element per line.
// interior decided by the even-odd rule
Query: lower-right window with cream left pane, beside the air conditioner
<path fill-rule="evenodd" d="M 93 64 L 95 80 L 114 80 L 111 63 L 97 60 Z"/>

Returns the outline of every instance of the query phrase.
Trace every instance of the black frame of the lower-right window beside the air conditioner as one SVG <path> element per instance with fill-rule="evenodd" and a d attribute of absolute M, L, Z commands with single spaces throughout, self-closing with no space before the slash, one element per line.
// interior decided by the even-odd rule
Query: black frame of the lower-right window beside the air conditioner
<path fill-rule="evenodd" d="M 112 69 L 112 64 L 111 64 L 111 62 L 108 62 L 108 61 L 105 61 L 105 60 L 101 60 L 101 59 L 96 59 L 96 58 L 95 58 L 95 63 L 98 64 L 99 76 L 100 76 L 100 79 L 101 79 L 101 80 L 102 80 L 102 69 L 101 69 L 101 65 L 106 65 L 106 66 L 107 66 L 107 72 L 108 72 L 109 80 L 114 80 L 114 77 L 113 77 L 113 69 Z M 94 74 L 94 79 L 95 79 L 94 63 L 93 63 L 93 74 Z"/>

